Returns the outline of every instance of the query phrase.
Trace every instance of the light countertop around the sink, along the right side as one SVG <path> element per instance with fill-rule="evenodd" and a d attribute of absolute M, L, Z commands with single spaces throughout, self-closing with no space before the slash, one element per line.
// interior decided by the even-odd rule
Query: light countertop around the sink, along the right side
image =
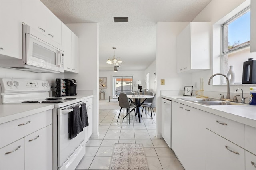
<path fill-rule="evenodd" d="M 180 95 L 162 95 L 161 97 L 256 128 L 256 106 L 253 106 L 253 105 L 207 106 L 207 105 L 198 104 L 192 101 L 177 99 L 177 98 L 195 98 L 195 97 L 180 96 Z"/>

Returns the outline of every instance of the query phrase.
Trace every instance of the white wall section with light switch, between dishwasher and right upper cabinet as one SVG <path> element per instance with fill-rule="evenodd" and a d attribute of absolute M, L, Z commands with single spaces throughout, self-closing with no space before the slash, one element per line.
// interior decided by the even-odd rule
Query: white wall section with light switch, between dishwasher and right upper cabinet
<path fill-rule="evenodd" d="M 188 22 L 158 22 L 156 27 L 156 137 L 161 137 L 161 91 L 180 91 L 185 85 L 191 85 L 190 73 L 177 73 L 176 37 Z M 160 80 L 165 85 L 160 85 Z"/>

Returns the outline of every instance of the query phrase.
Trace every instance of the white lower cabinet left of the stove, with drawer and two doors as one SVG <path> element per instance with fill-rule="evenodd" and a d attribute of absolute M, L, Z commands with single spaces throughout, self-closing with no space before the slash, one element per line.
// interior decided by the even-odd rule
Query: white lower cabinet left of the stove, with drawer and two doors
<path fill-rule="evenodd" d="M 52 170 L 52 110 L 0 124 L 1 170 Z"/>

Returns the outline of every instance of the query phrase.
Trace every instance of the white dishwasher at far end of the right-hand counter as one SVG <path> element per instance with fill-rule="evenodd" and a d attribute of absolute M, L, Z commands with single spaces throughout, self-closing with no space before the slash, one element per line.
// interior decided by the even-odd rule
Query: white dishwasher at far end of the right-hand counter
<path fill-rule="evenodd" d="M 164 98 L 162 98 L 162 137 L 172 148 L 172 101 Z"/>

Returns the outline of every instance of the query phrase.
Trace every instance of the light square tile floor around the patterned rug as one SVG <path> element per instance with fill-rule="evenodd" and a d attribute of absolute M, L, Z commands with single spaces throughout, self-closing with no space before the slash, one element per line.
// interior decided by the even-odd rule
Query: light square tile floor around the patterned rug
<path fill-rule="evenodd" d="M 135 120 L 134 112 L 128 119 L 122 119 L 126 109 L 122 109 L 118 119 L 119 109 L 99 110 L 98 138 L 90 138 L 86 143 L 86 154 L 76 167 L 76 170 L 108 169 L 115 143 L 142 143 L 150 170 L 184 170 L 174 152 L 162 138 L 156 138 L 156 117 L 153 124 L 150 117 L 143 113 L 141 123 Z M 152 113 L 153 114 L 153 113 Z"/>

